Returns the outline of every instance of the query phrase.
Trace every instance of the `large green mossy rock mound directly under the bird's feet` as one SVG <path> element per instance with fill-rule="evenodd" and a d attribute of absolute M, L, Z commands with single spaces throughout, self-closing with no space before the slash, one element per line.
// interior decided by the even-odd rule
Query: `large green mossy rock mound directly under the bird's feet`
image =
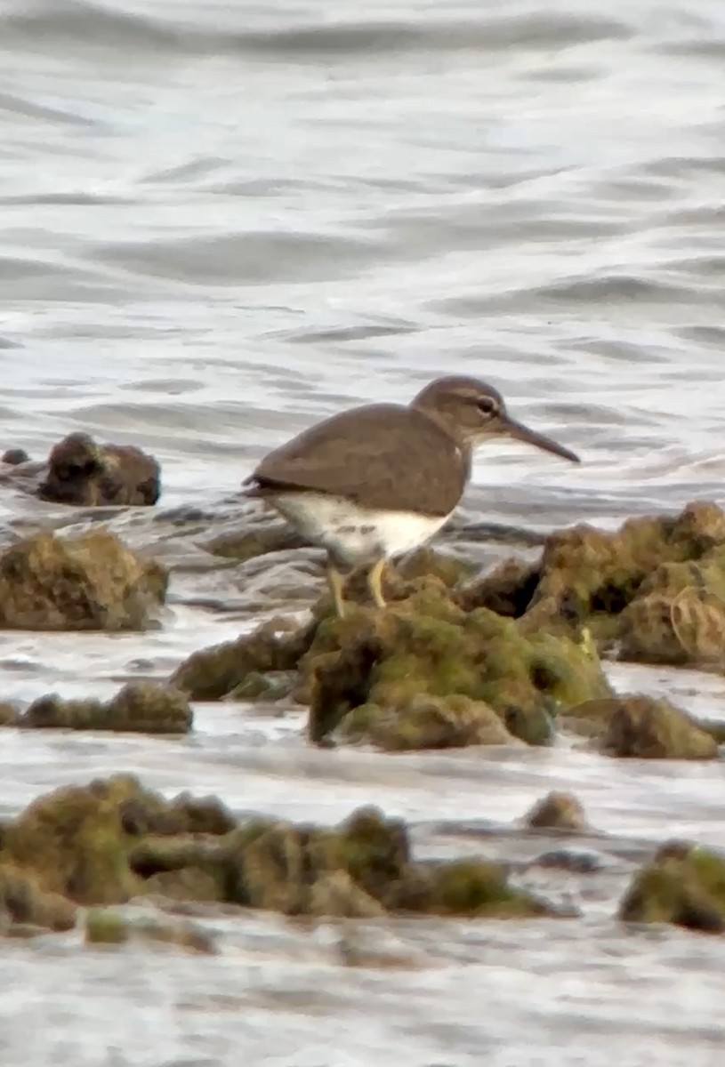
<path fill-rule="evenodd" d="M 611 694 L 590 649 L 546 633 L 524 636 L 486 608 L 464 612 L 436 579 L 385 611 L 326 618 L 300 669 L 310 680 L 315 744 L 356 707 L 398 710 L 421 696 L 483 701 L 509 733 L 547 744 L 557 712 Z"/>

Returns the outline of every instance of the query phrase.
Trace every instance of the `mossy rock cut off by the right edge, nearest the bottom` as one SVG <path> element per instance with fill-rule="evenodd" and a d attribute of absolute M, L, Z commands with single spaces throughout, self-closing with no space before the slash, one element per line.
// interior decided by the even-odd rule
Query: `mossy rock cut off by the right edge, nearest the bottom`
<path fill-rule="evenodd" d="M 639 871 L 619 904 L 631 923 L 671 923 L 704 934 L 725 931 L 725 858 L 669 842 Z"/>

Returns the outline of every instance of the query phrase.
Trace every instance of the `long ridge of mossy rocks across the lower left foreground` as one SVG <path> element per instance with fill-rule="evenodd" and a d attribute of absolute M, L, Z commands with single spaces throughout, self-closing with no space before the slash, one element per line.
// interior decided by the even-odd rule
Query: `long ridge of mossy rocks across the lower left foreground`
<path fill-rule="evenodd" d="M 234 825 L 223 812 L 208 799 L 166 801 L 128 776 L 57 790 L 5 826 L 0 903 L 3 885 L 11 902 L 26 887 L 13 905 L 17 921 L 51 928 L 72 924 L 79 904 L 159 894 L 289 915 L 556 913 L 509 886 L 501 864 L 416 862 L 406 824 L 376 808 L 358 809 L 332 829 L 271 818 Z M 126 933 L 100 912 L 88 936 L 117 943 Z"/>

